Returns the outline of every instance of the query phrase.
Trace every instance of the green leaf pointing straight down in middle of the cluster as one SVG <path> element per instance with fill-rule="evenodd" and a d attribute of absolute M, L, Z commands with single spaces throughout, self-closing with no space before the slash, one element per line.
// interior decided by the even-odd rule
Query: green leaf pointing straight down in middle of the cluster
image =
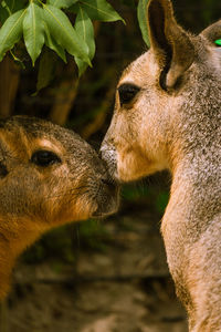
<path fill-rule="evenodd" d="M 40 55 L 44 44 L 43 10 L 33 1 L 30 2 L 23 20 L 24 43 L 32 63 Z"/>

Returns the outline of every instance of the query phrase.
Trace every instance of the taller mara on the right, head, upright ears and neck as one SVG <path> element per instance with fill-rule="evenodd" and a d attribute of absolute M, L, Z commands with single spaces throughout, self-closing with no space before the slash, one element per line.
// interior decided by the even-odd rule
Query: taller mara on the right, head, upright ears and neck
<path fill-rule="evenodd" d="M 169 269 L 189 330 L 221 331 L 221 21 L 193 35 L 169 0 L 150 0 L 147 18 L 150 50 L 119 80 L 101 152 L 119 181 L 170 170 Z"/>

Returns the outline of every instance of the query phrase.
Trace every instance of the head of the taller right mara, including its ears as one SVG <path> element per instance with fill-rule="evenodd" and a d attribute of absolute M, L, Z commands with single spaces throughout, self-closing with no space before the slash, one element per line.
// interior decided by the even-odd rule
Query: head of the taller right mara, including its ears
<path fill-rule="evenodd" d="M 210 144 L 220 114 L 221 49 L 214 41 L 221 21 L 190 34 L 169 0 L 150 0 L 147 21 L 150 49 L 124 71 L 101 148 L 124 181 L 175 169 L 187 153 Z"/>

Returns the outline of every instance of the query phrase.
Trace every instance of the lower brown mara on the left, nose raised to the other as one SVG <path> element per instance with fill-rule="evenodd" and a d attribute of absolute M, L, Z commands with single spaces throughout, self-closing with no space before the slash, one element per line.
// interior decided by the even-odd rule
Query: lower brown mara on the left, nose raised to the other
<path fill-rule="evenodd" d="M 72 131 L 25 116 L 0 121 L 0 300 L 17 257 L 43 232 L 117 209 L 117 188 Z"/>

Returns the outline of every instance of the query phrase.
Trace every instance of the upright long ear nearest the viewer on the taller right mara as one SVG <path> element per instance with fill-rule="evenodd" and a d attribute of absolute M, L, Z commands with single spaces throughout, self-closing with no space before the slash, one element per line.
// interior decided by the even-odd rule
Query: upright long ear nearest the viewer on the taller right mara
<path fill-rule="evenodd" d="M 156 60 L 161 68 L 162 89 L 175 87 L 194 59 L 194 48 L 188 33 L 176 22 L 170 0 L 150 0 L 147 21 Z"/>

